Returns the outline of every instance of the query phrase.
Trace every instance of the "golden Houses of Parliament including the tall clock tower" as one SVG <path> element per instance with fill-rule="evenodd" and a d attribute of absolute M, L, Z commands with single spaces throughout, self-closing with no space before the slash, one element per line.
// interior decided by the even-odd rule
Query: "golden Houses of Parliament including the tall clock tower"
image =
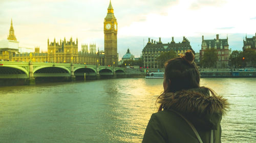
<path fill-rule="evenodd" d="M 14 28 L 11 20 L 9 36 L 6 40 L 0 41 L 0 60 L 2 61 L 24 61 L 24 62 L 53 62 L 53 63 L 74 63 L 89 65 L 113 66 L 118 62 L 117 54 L 117 20 L 114 16 L 114 9 L 110 2 L 108 13 L 104 18 L 104 51 L 97 51 L 96 44 L 82 44 L 78 51 L 78 39 L 50 42 L 48 39 L 47 52 L 40 52 L 35 47 L 34 52 L 26 52 L 18 47 L 18 41 L 14 35 Z M 90 52 L 88 48 L 90 46 Z M 23 52 L 22 52 L 23 51 Z M 25 51 L 25 52 L 24 52 Z"/>

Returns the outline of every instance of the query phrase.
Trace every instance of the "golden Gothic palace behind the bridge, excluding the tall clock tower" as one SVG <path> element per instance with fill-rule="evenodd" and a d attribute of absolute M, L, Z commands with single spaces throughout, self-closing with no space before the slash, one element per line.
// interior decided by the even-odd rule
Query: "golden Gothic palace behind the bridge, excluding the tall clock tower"
<path fill-rule="evenodd" d="M 48 39 L 47 52 L 40 52 L 39 47 L 35 47 L 34 51 L 31 48 L 21 48 L 18 44 L 11 20 L 8 38 L 0 41 L 0 60 L 2 61 L 104 64 L 104 52 L 96 52 L 95 43 L 90 44 L 90 52 L 88 52 L 89 47 L 86 44 L 82 44 L 82 51 L 78 52 L 78 40 L 73 41 L 72 38 L 70 41 L 66 41 L 64 38 L 59 42 L 55 38 L 53 42 L 49 42 Z"/>

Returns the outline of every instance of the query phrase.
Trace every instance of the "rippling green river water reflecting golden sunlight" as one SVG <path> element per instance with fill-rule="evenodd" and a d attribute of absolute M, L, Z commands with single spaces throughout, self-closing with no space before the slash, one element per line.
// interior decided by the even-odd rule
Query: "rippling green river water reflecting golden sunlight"
<path fill-rule="evenodd" d="M 0 142 L 141 142 L 163 79 L 0 87 Z M 222 142 L 256 141 L 256 78 L 202 78 L 228 99 Z"/>

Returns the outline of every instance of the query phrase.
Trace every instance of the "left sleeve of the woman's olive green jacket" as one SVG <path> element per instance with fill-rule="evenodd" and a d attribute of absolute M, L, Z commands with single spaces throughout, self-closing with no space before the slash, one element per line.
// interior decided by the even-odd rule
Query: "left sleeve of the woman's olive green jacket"
<path fill-rule="evenodd" d="M 148 142 L 167 142 L 165 129 L 161 125 L 157 116 L 153 114 L 147 124 L 142 143 Z"/>

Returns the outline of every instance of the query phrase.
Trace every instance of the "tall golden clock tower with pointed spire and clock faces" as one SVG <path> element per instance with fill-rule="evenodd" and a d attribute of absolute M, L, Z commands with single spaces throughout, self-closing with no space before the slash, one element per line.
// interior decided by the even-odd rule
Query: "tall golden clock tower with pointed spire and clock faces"
<path fill-rule="evenodd" d="M 108 8 L 108 14 L 104 19 L 104 51 L 105 66 L 117 65 L 117 21 L 114 16 L 114 9 L 111 5 Z"/>

